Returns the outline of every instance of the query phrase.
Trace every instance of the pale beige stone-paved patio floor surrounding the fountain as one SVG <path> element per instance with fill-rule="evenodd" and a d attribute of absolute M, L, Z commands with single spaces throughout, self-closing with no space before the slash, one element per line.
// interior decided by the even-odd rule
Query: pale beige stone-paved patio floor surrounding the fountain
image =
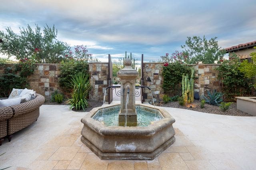
<path fill-rule="evenodd" d="M 38 120 L 0 146 L 0 169 L 255 169 L 256 117 L 168 108 L 176 142 L 152 161 L 100 160 L 80 142 L 86 113 L 43 105 Z"/>

